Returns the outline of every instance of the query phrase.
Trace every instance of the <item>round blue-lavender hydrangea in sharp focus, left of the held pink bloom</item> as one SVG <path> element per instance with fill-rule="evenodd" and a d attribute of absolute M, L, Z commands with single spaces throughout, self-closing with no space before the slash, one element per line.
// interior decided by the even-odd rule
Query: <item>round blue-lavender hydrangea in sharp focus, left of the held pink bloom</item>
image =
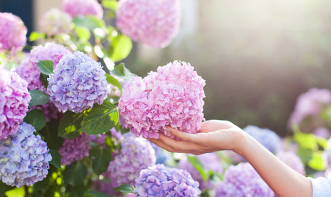
<path fill-rule="evenodd" d="M 79 113 L 107 98 L 106 72 L 83 52 L 66 54 L 48 78 L 50 101 L 60 112 Z"/>

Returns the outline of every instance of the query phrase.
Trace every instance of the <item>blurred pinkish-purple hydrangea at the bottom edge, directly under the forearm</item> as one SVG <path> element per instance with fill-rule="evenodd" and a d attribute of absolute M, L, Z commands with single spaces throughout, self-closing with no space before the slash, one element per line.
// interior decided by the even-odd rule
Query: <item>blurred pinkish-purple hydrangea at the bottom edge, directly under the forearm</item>
<path fill-rule="evenodd" d="M 274 192 L 257 174 L 250 163 L 230 165 L 215 196 L 274 197 Z"/>

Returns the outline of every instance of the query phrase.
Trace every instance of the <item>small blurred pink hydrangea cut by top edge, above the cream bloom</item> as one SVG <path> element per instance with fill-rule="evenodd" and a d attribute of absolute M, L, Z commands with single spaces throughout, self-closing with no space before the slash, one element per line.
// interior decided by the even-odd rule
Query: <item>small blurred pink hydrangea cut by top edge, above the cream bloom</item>
<path fill-rule="evenodd" d="M 72 19 L 79 15 L 97 17 L 102 19 L 103 9 L 97 0 L 64 0 L 62 10 L 68 13 Z"/>

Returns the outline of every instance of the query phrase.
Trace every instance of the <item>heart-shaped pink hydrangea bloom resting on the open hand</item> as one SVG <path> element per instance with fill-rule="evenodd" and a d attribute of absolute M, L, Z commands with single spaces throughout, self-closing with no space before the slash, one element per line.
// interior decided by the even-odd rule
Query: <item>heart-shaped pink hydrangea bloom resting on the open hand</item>
<path fill-rule="evenodd" d="M 159 138 L 166 126 L 195 133 L 203 121 L 205 81 L 189 63 L 174 61 L 134 77 L 123 88 L 119 111 L 136 136 Z"/>

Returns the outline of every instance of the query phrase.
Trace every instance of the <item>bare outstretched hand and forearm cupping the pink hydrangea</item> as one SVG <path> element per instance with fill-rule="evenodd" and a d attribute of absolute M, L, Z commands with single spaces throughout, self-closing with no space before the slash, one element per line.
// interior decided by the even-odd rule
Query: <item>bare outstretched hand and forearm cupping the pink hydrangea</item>
<path fill-rule="evenodd" d="M 205 121 L 201 123 L 197 134 L 188 134 L 172 127 L 167 129 L 176 139 L 160 134 L 159 139 L 148 140 L 169 152 L 199 155 L 231 150 L 243 156 L 277 196 L 312 196 L 312 185 L 308 178 L 285 165 L 252 136 L 229 121 Z"/>

